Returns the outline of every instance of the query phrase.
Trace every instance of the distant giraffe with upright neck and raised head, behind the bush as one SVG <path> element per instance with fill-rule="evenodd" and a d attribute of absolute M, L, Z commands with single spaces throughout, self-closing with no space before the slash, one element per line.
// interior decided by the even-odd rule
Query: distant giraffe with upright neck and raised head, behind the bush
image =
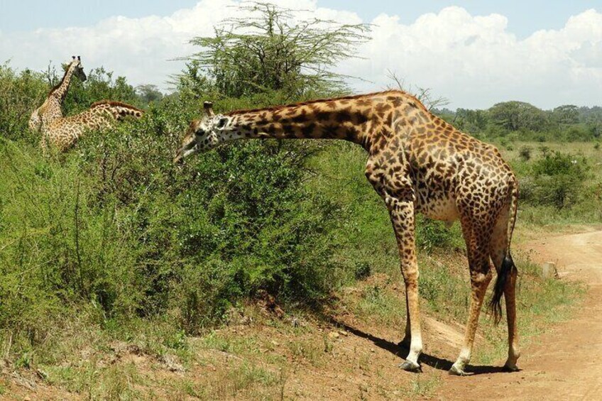
<path fill-rule="evenodd" d="M 31 131 L 40 131 L 43 123 L 50 123 L 50 121 L 62 117 L 60 107 L 65 100 L 65 96 L 67 96 L 67 90 L 69 89 L 73 75 L 82 82 L 87 79 L 80 56 L 72 56 L 72 60 L 67 66 L 65 75 L 63 75 L 60 82 L 53 89 L 50 89 L 44 103 L 31 113 L 31 117 L 29 118 L 29 129 Z"/>

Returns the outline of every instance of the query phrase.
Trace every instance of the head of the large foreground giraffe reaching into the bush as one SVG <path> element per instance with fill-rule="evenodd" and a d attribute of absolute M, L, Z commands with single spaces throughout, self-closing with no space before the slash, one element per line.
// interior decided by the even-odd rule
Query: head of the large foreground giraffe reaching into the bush
<path fill-rule="evenodd" d="M 231 119 L 229 116 L 215 114 L 212 106 L 212 102 L 205 101 L 203 118 L 190 123 L 175 155 L 175 163 L 182 162 L 190 155 L 211 150 L 226 140 L 226 129 L 229 128 Z"/>

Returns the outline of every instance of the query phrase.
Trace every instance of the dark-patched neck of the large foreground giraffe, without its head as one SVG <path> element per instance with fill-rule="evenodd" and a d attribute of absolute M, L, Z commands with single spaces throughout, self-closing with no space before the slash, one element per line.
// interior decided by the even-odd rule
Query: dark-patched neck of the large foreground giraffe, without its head
<path fill-rule="evenodd" d="M 233 111 L 223 128 L 226 141 L 247 138 L 342 139 L 366 145 L 370 111 L 353 99 L 312 101 L 268 109 Z"/>

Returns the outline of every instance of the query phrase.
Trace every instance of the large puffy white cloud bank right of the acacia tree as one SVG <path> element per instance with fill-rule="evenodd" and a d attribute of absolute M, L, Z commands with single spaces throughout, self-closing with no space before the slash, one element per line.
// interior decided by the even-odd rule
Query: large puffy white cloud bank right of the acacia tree
<path fill-rule="evenodd" d="M 385 86 L 392 70 L 405 82 L 432 88 L 452 106 L 484 108 L 510 99 L 544 108 L 600 104 L 602 13 L 594 10 L 524 40 L 508 32 L 504 16 L 471 16 L 460 7 L 410 25 L 386 14 L 373 23 L 373 40 L 360 50 L 366 60 L 346 62 L 344 72 Z"/>

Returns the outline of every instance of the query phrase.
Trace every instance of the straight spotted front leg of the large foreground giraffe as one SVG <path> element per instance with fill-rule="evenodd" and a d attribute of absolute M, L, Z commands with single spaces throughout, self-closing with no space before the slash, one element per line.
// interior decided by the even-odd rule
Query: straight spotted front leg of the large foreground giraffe
<path fill-rule="evenodd" d="M 410 192 L 409 192 L 410 193 Z M 418 298 L 418 265 L 414 241 L 414 202 L 409 199 L 385 197 L 388 206 L 395 238 L 397 238 L 401 273 L 405 283 L 406 326 L 402 344 L 409 346 L 410 351 L 400 368 L 410 372 L 420 372 L 418 358 L 422 353 L 422 334 L 420 332 L 420 300 Z"/>

